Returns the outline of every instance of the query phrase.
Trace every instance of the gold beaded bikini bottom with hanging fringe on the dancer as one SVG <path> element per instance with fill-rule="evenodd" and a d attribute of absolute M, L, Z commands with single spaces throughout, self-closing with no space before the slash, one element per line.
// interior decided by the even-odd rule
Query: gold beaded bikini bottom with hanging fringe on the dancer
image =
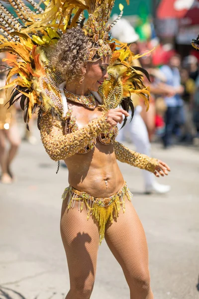
<path fill-rule="evenodd" d="M 124 213 L 125 197 L 127 197 L 130 201 L 132 196 L 131 192 L 127 188 L 126 182 L 124 182 L 123 187 L 121 187 L 121 189 L 119 189 L 117 193 L 114 193 L 110 197 L 106 198 L 91 196 L 86 192 L 78 191 L 72 186 L 69 186 L 64 190 L 64 193 L 62 195 L 63 200 L 67 197 L 68 194 L 68 209 L 74 208 L 75 203 L 78 202 L 78 210 L 82 211 L 85 204 L 87 207 L 87 219 L 89 219 L 90 216 L 93 216 L 95 220 L 98 221 L 100 244 L 104 238 L 106 223 L 108 221 L 112 222 L 113 217 L 118 217 L 120 208 L 122 208 L 122 211 Z"/>

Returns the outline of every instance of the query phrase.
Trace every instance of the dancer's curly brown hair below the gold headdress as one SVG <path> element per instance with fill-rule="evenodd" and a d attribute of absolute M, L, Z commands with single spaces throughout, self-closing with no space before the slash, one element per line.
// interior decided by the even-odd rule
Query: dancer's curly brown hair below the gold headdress
<path fill-rule="evenodd" d="M 49 53 L 50 63 L 65 78 L 71 81 L 82 75 L 87 59 L 89 37 L 80 27 L 68 29 Z"/>

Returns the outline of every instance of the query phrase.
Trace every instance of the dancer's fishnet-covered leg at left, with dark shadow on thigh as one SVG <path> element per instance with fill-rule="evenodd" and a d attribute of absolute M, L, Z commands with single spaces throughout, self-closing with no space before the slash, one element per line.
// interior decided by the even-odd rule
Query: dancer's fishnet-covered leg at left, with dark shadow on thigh
<path fill-rule="evenodd" d="M 78 202 L 68 210 L 66 198 L 62 205 L 61 236 L 66 251 L 70 291 L 66 299 L 90 299 L 96 276 L 99 230 L 87 208 L 78 210 Z"/>

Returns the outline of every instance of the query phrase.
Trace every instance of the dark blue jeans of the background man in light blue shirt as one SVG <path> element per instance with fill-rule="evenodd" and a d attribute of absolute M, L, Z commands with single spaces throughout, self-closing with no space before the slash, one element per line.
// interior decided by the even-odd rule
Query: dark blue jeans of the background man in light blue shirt
<path fill-rule="evenodd" d="M 162 137 L 164 147 L 172 145 L 172 135 L 178 132 L 185 123 L 185 111 L 183 106 L 168 107 L 165 113 L 165 134 Z"/>

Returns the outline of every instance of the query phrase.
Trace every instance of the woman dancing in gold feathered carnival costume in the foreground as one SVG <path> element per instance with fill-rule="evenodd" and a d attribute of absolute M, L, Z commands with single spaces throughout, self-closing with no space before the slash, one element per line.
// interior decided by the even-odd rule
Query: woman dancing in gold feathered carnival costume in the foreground
<path fill-rule="evenodd" d="M 43 46 L 32 46 L 28 64 L 32 77 L 27 72 L 27 82 L 14 81 L 28 97 L 25 107 L 30 113 L 25 119 L 39 104 L 43 145 L 53 160 L 64 159 L 69 169 L 70 186 L 63 193 L 61 212 L 61 235 L 70 274 L 66 299 L 91 297 L 103 238 L 123 269 L 130 298 L 152 299 L 145 233 L 116 159 L 156 176 L 168 174 L 169 167 L 115 142 L 117 123 L 122 122 L 122 116 L 129 116 L 129 106 L 133 109 L 129 94 L 140 93 L 145 98 L 148 89 L 136 69 L 130 67 L 132 53 L 126 45 L 117 42 L 120 50 L 116 50 L 115 43 L 108 41 L 111 26 L 106 22 L 114 1 L 74 2 L 61 1 L 58 7 L 52 1 L 38 16 L 38 22 L 32 16 L 32 25 L 22 32 L 31 33 L 29 40 L 26 38 L 28 47 L 32 40 Z M 73 18 L 72 8 L 76 8 Z M 78 27 L 84 9 L 88 9 L 89 19 Z M 49 29 L 50 22 L 59 30 Z M 40 36 L 34 36 L 34 30 L 40 30 Z M 53 43 L 59 41 L 44 51 L 46 40 L 49 45 L 52 38 Z M 22 90 L 24 86 L 29 94 Z M 125 109 L 116 108 L 119 104 Z"/>

